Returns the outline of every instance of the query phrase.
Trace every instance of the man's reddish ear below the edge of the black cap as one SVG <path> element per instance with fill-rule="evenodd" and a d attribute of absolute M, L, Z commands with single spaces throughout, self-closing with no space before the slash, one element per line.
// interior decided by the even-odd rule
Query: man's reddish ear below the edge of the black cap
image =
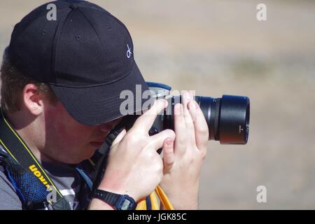
<path fill-rule="evenodd" d="M 43 94 L 38 92 L 38 87 L 36 85 L 25 85 L 22 90 L 22 104 L 24 104 L 34 116 L 43 113 Z"/>

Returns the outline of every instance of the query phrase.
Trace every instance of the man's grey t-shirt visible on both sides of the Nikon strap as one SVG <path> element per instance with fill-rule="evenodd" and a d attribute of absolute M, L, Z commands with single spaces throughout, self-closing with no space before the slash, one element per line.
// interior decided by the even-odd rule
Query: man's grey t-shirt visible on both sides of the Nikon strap
<path fill-rule="evenodd" d="M 75 166 L 48 162 L 42 162 L 41 164 L 72 209 L 85 209 L 87 207 L 90 202 L 90 189 L 76 171 Z M 84 165 L 80 164 L 80 167 L 83 168 Z M 21 210 L 22 203 L 18 194 L 3 170 L 0 165 L 0 210 Z M 47 209 L 51 208 L 48 207 Z"/>

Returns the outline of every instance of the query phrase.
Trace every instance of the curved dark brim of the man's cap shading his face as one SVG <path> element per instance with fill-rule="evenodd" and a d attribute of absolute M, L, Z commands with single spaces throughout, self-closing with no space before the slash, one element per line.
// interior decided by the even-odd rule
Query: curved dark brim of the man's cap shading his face
<path fill-rule="evenodd" d="M 151 97 L 148 99 L 142 97 L 148 86 L 137 64 L 134 64 L 127 76 L 106 85 L 92 87 L 50 85 L 66 111 L 79 123 L 85 125 L 99 125 L 125 116 L 126 100 L 128 106 L 131 106 L 127 110 L 128 113 L 141 111 L 143 105 L 149 104 L 148 100 L 150 103 L 152 101 Z M 125 94 L 122 94 L 124 90 Z"/>

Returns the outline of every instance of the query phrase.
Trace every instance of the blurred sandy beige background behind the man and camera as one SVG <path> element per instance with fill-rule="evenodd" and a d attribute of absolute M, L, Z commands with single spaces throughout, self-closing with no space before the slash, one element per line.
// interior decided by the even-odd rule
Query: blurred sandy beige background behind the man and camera
<path fill-rule="evenodd" d="M 1 52 L 13 25 L 44 2 L 0 1 Z M 248 144 L 209 144 L 200 209 L 315 209 L 315 1 L 92 2 L 130 30 L 146 80 L 250 97 Z M 267 203 L 256 202 L 260 185 Z"/>

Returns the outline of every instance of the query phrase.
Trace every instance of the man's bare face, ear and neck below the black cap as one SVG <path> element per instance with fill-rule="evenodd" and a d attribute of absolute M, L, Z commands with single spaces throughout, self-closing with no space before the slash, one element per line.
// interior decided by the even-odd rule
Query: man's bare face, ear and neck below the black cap
<path fill-rule="evenodd" d="M 52 104 L 33 84 L 23 90 L 20 111 L 7 116 L 36 158 L 67 164 L 90 158 L 120 120 L 96 126 L 78 123 L 61 102 Z"/>

